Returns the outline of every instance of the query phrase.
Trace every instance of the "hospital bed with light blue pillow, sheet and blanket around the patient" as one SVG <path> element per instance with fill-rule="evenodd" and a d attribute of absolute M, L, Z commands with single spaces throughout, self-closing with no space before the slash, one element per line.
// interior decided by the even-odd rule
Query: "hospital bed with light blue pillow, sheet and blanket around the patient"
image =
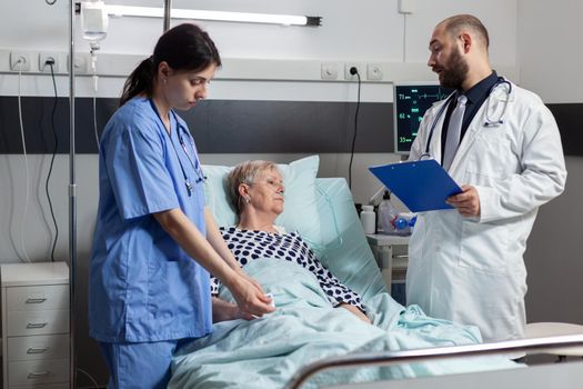
<path fill-rule="evenodd" d="M 250 322 L 215 325 L 211 336 L 178 350 L 169 388 L 282 388 L 301 368 L 328 357 L 480 343 L 475 328 L 429 318 L 419 307 L 404 308 L 390 297 L 345 180 L 316 179 L 318 163 L 318 157 L 309 157 L 280 166 L 285 182 L 285 211 L 278 223 L 289 231 L 298 230 L 322 263 L 361 295 L 376 327 L 360 322 L 343 309 L 314 309 L 323 305 L 325 296 L 318 296 L 318 285 L 310 283 L 303 269 L 291 268 L 292 263 L 285 261 L 267 266 L 258 260 L 245 266 L 245 271 L 275 295 L 278 311 Z M 224 178 L 229 170 L 229 167 L 204 167 L 208 206 L 220 226 L 235 222 L 225 194 Z M 221 297 L 229 300 L 228 290 L 223 292 Z M 504 356 L 481 358 L 324 372 L 308 385 L 363 385 L 383 379 L 517 368 Z"/>

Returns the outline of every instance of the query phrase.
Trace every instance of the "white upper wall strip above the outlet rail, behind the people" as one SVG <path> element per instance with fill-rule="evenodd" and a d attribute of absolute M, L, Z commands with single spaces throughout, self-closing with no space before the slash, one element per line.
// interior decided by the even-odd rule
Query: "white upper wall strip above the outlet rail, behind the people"
<path fill-rule="evenodd" d="M 160 0 L 117 0 L 115 4 L 160 7 Z M 408 17 L 406 52 L 409 62 L 425 62 L 432 27 L 448 16 L 472 12 L 490 27 L 494 62 L 515 62 L 516 1 L 418 0 L 418 12 Z M 58 0 L 2 0 L 0 48 L 68 50 L 68 4 Z M 199 9 L 264 13 L 320 16 L 320 28 L 295 28 L 247 23 L 200 22 L 212 36 L 224 57 L 261 59 L 359 59 L 401 61 L 403 16 L 396 0 L 221 0 L 197 1 Z M 174 0 L 174 8 L 192 8 L 191 0 Z M 131 33 L 128 33 L 130 29 Z M 154 19 L 111 19 L 102 51 L 108 53 L 149 53 L 162 32 Z M 87 43 L 77 39 L 81 50 Z"/>

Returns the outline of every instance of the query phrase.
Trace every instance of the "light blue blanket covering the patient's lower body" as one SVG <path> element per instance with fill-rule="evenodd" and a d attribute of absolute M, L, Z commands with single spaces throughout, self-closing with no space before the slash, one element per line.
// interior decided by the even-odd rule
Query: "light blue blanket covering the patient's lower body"
<path fill-rule="evenodd" d="M 218 323 L 174 356 L 169 388 L 282 388 L 302 366 L 349 352 L 402 350 L 480 342 L 473 327 L 404 309 L 388 293 L 366 301 L 375 326 L 343 308 L 332 308 L 318 279 L 295 263 L 260 259 L 245 271 L 273 293 L 277 311 L 264 318 Z M 231 300 L 227 289 L 221 297 Z M 308 387 L 512 368 L 502 358 L 435 361 L 399 367 L 340 370 L 318 375 Z"/>

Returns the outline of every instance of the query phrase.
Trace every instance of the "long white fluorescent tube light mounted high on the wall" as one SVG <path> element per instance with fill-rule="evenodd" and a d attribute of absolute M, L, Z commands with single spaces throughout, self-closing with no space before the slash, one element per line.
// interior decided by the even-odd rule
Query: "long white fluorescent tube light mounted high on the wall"
<path fill-rule="evenodd" d="M 105 6 L 108 14 L 112 17 L 142 17 L 142 18 L 163 18 L 164 10 L 154 7 L 132 7 L 132 6 Z M 248 12 L 227 12 L 227 11 L 202 11 L 188 9 L 172 9 L 172 19 L 189 20 L 213 20 L 233 21 L 247 23 L 270 23 L 283 26 L 321 26 L 320 17 L 303 17 L 293 14 L 269 14 L 269 13 L 248 13 Z"/>

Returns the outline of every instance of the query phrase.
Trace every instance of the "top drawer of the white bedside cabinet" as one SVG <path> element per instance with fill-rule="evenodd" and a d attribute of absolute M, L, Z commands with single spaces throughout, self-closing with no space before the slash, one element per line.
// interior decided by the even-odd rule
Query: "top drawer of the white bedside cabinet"
<path fill-rule="evenodd" d="M 50 285 L 40 287 L 7 288 L 7 310 L 36 311 L 69 309 L 69 286 Z"/>

